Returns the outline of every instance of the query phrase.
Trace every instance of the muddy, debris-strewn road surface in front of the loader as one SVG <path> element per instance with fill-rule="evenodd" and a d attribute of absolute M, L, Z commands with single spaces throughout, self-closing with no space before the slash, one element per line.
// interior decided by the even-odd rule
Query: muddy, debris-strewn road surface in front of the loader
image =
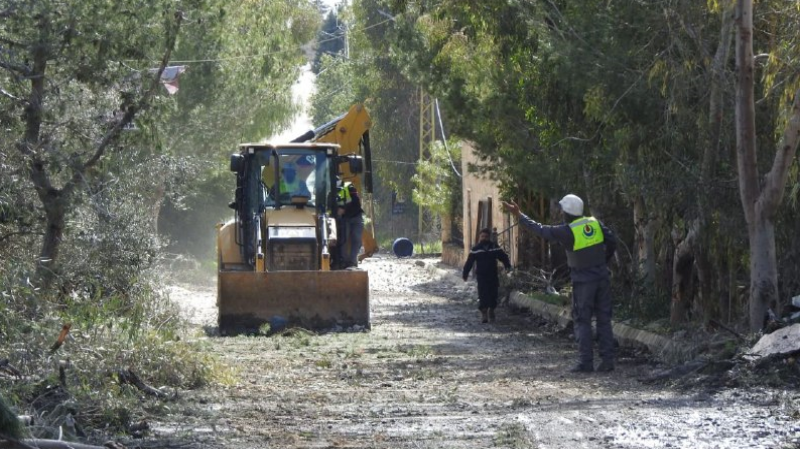
<path fill-rule="evenodd" d="M 570 374 L 568 332 L 507 308 L 478 320 L 472 282 L 435 260 L 371 258 L 367 332 L 214 334 L 213 287 L 176 287 L 225 385 L 181 392 L 141 447 L 797 447 L 800 393 L 676 389 L 623 350 L 611 374 Z M 456 271 L 453 270 L 455 274 Z"/>

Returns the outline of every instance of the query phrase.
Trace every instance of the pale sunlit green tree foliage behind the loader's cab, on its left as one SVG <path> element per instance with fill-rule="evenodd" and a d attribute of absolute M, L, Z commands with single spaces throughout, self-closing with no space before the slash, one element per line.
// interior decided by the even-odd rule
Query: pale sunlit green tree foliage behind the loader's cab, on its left
<path fill-rule="evenodd" d="M 160 119 L 164 151 L 181 161 L 186 176 L 151 201 L 163 202 L 159 230 L 168 250 L 207 259 L 215 224 L 232 216 L 228 156 L 239 143 L 290 124 L 298 109 L 291 88 L 307 63 L 302 46 L 320 18 L 304 0 L 213 0 L 197 14 L 176 49 L 176 60 L 189 68 Z"/>

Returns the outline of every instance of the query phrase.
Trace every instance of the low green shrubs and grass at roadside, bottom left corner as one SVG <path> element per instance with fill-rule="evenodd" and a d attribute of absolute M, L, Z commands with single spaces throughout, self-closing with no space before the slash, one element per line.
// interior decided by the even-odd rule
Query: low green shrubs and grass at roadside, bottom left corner
<path fill-rule="evenodd" d="M 131 369 L 150 385 L 172 388 L 198 387 L 227 376 L 197 344 L 182 340 L 179 311 L 150 285 L 137 286 L 135 301 L 73 291 L 56 302 L 10 268 L 4 266 L 0 279 L 0 352 L 23 376 L 41 378 L 41 383 L 6 379 L 0 384 L 20 413 L 42 417 L 43 425 L 61 417 L 43 416 L 44 411 L 72 408 L 87 431 L 109 425 L 125 429 L 130 421 L 109 422 L 109 417 L 137 414 L 140 394 L 119 384 L 115 374 L 120 370 Z M 71 325 L 68 338 L 54 352 L 51 347 L 64 324 Z M 61 383 L 68 395 L 40 397 L 47 384 Z"/>

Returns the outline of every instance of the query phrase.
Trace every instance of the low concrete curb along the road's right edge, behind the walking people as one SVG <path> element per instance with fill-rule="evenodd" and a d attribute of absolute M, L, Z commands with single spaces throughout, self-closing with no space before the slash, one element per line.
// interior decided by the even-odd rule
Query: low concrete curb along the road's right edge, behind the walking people
<path fill-rule="evenodd" d="M 461 279 L 460 271 L 457 269 L 441 269 L 428 263 L 425 264 L 424 268 L 430 275 L 441 279 L 447 279 L 452 283 L 458 284 L 464 282 L 464 280 Z M 561 326 L 567 326 L 572 322 L 572 308 L 569 306 L 552 305 L 529 297 L 519 291 L 515 291 L 511 294 L 510 303 L 519 308 L 527 308 L 533 314 L 556 322 Z M 612 326 L 614 329 L 614 337 L 617 338 L 622 346 L 647 347 L 651 352 L 658 354 L 672 345 L 672 341 L 668 337 L 650 331 L 640 330 L 622 323 L 614 323 Z"/>

